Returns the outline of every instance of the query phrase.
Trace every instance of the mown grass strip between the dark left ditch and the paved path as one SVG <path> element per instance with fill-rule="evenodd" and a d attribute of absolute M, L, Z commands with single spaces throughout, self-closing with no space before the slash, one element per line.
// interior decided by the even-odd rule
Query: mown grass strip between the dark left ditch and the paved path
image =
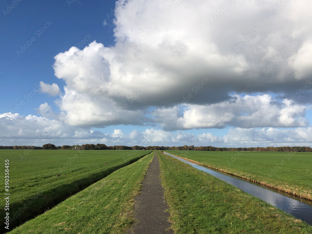
<path fill-rule="evenodd" d="M 120 168 L 8 234 L 125 233 L 134 221 L 134 198 L 153 156 Z"/>

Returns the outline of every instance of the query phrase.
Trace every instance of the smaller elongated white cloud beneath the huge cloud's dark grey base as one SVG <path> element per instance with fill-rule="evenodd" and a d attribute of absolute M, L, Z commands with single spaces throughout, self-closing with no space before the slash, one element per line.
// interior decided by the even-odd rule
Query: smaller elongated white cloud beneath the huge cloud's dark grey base
<path fill-rule="evenodd" d="M 229 101 L 211 105 L 180 105 L 173 108 L 157 108 L 155 120 L 163 129 L 241 128 L 255 127 L 305 127 L 305 105 L 292 100 L 278 100 L 271 95 L 232 95 Z"/>

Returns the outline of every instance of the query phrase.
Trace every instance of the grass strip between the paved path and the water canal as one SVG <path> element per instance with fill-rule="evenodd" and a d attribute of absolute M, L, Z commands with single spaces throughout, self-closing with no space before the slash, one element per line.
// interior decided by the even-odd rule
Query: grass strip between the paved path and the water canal
<path fill-rule="evenodd" d="M 175 233 L 311 233 L 305 222 L 158 152 Z"/>

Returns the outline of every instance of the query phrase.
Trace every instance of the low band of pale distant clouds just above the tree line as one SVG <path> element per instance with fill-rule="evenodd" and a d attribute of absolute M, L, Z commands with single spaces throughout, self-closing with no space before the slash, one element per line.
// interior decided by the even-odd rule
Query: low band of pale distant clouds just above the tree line
<path fill-rule="evenodd" d="M 63 144 L 97 144 L 106 145 L 164 145 L 194 146 L 267 146 L 267 145 L 307 145 L 312 143 L 312 128 L 276 129 L 276 128 L 234 128 L 223 137 L 206 132 L 190 134 L 183 131 L 176 133 L 162 129 L 133 130 L 129 134 L 121 129 L 112 133 L 103 133 L 92 129 L 76 129 L 60 121 L 50 120 L 35 115 L 0 114 L 0 139 L 2 144 L 10 145 L 21 142 L 25 145 L 41 146 L 46 143 Z"/>

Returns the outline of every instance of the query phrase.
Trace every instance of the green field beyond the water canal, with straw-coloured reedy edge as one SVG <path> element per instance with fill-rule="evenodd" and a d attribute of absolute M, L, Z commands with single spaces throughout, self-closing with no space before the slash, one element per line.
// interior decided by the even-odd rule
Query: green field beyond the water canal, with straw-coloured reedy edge
<path fill-rule="evenodd" d="M 167 150 L 205 166 L 312 200 L 312 153 Z"/>

